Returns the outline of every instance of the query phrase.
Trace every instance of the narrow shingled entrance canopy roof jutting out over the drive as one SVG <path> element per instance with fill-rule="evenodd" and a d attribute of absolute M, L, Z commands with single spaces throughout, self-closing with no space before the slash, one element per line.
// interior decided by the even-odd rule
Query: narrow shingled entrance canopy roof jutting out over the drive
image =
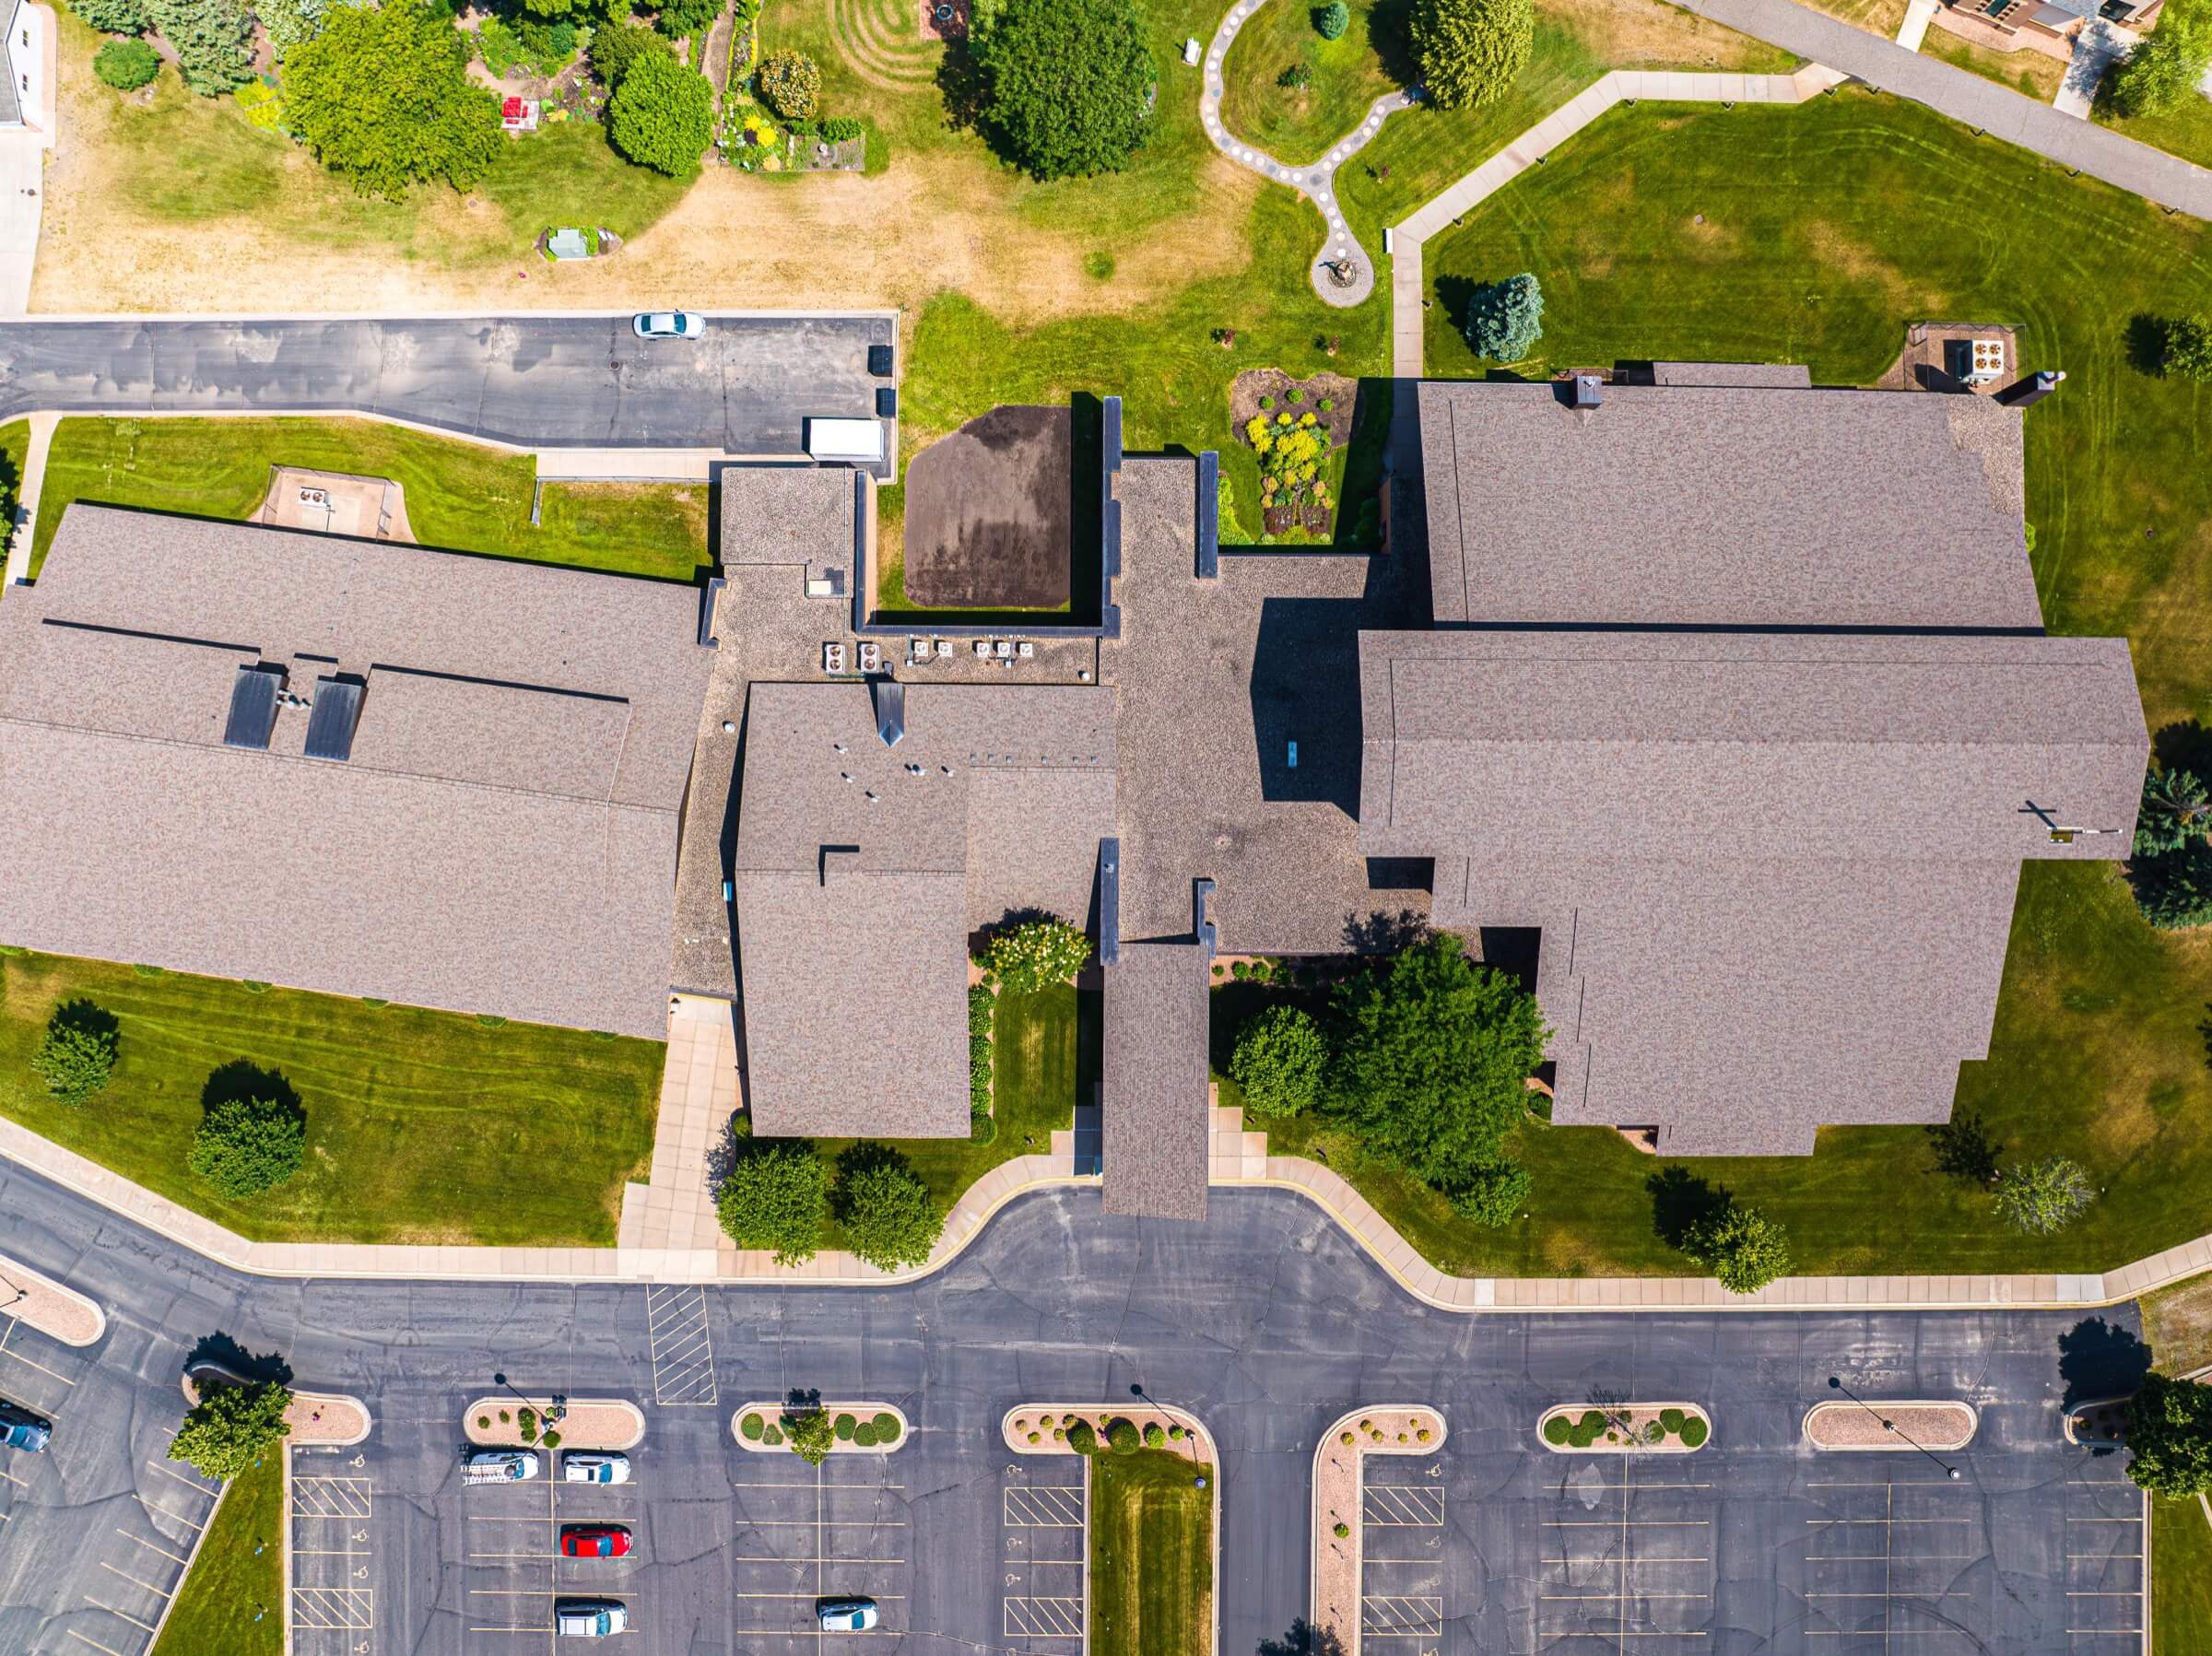
<path fill-rule="evenodd" d="M 1206 1218 L 1208 953 L 1199 944 L 1126 944 L 1106 968 L 1099 1128 L 1104 1207 L 1146 1218 Z"/>

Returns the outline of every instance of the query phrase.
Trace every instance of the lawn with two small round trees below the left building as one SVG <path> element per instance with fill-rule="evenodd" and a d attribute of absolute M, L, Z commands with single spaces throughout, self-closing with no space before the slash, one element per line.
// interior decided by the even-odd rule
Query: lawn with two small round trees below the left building
<path fill-rule="evenodd" d="M 29 1063 L 80 995 L 122 1021 L 122 1046 L 108 1088 L 71 1110 Z M 201 1090 L 239 1061 L 307 1112 L 307 1163 L 252 1203 L 184 1165 Z M 0 955 L 0 1114 L 263 1243 L 613 1245 L 659 1083 L 659 1041 Z"/>

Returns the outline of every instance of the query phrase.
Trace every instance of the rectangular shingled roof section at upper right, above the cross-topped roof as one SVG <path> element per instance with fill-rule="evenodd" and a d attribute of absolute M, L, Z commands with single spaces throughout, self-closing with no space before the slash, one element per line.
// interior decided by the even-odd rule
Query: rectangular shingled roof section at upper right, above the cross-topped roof
<path fill-rule="evenodd" d="M 1436 621 L 2042 626 L 2020 411 L 1978 396 L 1420 387 Z"/>

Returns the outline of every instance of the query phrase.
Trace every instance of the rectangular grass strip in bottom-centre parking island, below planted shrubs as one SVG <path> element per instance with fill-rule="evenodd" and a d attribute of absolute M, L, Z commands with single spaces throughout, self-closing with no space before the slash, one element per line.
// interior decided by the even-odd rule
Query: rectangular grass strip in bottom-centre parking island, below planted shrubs
<path fill-rule="evenodd" d="M 1091 1656 L 1212 1652 L 1212 1472 L 1164 1448 L 1091 1461 Z"/>

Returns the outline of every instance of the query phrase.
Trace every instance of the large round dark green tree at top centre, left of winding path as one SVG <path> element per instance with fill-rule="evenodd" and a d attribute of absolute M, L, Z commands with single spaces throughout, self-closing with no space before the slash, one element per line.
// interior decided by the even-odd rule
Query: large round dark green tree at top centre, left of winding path
<path fill-rule="evenodd" d="M 1144 144 L 1159 75 L 1135 0 L 1004 0 L 973 51 L 984 119 L 1031 177 L 1119 172 Z"/>

